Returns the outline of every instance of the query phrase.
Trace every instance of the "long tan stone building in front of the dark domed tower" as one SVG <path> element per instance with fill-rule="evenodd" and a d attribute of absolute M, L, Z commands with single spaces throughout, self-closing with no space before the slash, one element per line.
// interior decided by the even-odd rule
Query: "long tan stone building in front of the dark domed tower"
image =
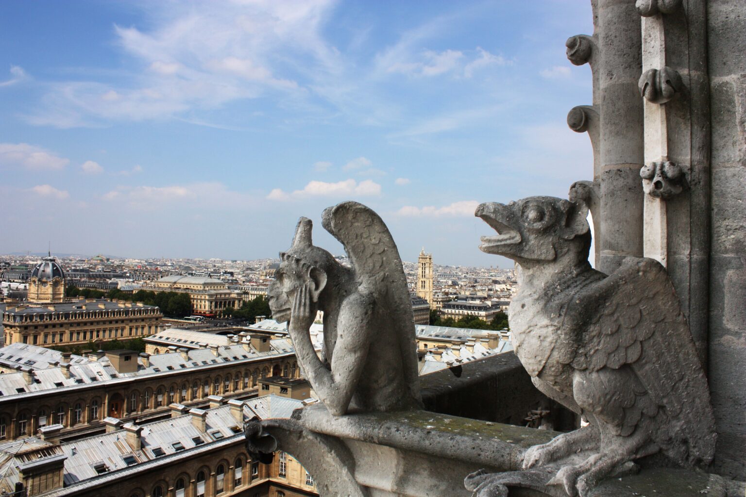
<path fill-rule="evenodd" d="M 156 306 L 105 299 L 9 305 L 2 313 L 4 344 L 126 340 L 156 333 L 162 318 Z"/>

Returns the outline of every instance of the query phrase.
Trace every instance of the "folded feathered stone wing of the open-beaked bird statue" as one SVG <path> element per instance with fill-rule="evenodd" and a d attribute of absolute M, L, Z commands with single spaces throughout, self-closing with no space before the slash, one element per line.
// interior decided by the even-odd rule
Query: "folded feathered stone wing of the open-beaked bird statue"
<path fill-rule="evenodd" d="M 630 257 L 576 302 L 587 324 L 571 365 L 607 386 L 597 389 L 592 410 L 618 420 L 618 434 L 625 436 L 646 418 L 669 457 L 691 466 L 709 463 L 715 451 L 709 389 L 665 268 Z M 629 381 L 608 384 L 621 376 L 605 368 L 626 365 Z"/>

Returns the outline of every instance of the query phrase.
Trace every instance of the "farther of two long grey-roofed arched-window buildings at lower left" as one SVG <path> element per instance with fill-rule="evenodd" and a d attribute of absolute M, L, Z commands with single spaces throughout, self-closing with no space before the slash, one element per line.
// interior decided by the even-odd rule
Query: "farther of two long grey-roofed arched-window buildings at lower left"
<path fill-rule="evenodd" d="M 0 366 L 15 363 L 23 352 L 17 345 L 0 349 Z M 288 348 L 259 353 L 235 345 L 142 354 L 131 361 L 120 361 L 121 351 L 90 358 L 59 354 L 41 355 L 50 363 L 38 353 L 22 356 L 16 364 L 37 361 L 44 367 L 22 366 L 17 373 L 0 375 L 0 440 L 30 437 L 48 425 L 61 425 L 58 437 L 63 440 L 101 433 L 106 417 L 158 419 L 169 414 L 173 402 L 191 408 L 209 405 L 210 396 L 248 399 L 260 393 L 263 378 L 300 376 L 295 353 Z M 129 366 L 133 361 L 134 371 Z"/>

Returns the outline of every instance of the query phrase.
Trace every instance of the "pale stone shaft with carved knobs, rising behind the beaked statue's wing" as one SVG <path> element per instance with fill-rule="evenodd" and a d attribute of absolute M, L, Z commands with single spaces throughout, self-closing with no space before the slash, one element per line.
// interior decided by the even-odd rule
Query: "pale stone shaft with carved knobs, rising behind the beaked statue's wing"
<path fill-rule="evenodd" d="M 638 2 L 645 106 L 645 256 L 668 268 L 706 364 L 709 84 L 703 0 Z M 661 10 L 662 9 L 662 10 Z"/>

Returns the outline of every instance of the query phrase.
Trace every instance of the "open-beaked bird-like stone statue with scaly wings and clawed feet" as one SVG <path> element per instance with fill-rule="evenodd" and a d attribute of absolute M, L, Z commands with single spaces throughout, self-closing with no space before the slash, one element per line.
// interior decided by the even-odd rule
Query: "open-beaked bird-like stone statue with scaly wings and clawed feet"
<path fill-rule="evenodd" d="M 545 484 L 581 497 L 632 460 L 703 467 L 715 451 L 707 382 L 665 268 L 630 257 L 610 275 L 592 269 L 587 214 L 582 200 L 555 197 L 476 212 L 498 232 L 480 249 L 520 266 L 509 309 L 518 358 L 542 393 L 589 423 L 528 449 L 523 469 L 549 466 Z M 481 471 L 466 486 L 504 496 L 520 480 Z"/>

